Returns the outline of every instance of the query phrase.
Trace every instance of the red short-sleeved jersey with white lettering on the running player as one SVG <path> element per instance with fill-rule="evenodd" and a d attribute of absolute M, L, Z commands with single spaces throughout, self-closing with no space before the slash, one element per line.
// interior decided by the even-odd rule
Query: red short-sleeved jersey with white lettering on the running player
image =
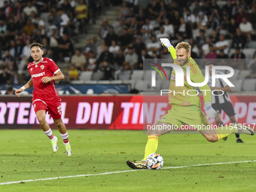
<path fill-rule="evenodd" d="M 52 99 L 59 98 L 59 95 L 55 89 L 55 81 L 50 81 L 47 84 L 43 84 L 41 79 L 44 77 L 53 77 L 56 72 L 59 72 L 59 67 L 56 63 L 49 58 L 42 58 L 41 62 L 35 64 L 30 62 L 28 65 L 30 77 L 33 81 L 33 99 L 41 99 L 43 101 L 50 101 Z"/>

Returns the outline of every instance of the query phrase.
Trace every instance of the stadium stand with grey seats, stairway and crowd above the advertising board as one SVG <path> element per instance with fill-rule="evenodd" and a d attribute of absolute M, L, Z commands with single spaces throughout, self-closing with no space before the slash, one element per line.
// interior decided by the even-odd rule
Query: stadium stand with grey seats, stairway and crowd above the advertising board
<path fill-rule="evenodd" d="M 78 78 L 72 78 L 67 83 L 130 84 L 131 88 L 142 91 L 143 85 L 139 82 L 151 79 L 151 71 L 143 72 L 143 60 L 154 59 L 157 62 L 157 59 L 170 58 L 163 47 L 157 47 L 158 40 L 156 43 L 151 41 L 152 36 L 161 35 L 160 31 L 164 29 L 163 34 L 169 36 L 173 45 L 180 41 L 194 42 L 192 56 L 203 61 L 206 57 L 202 47 L 206 38 L 210 38 L 213 45 L 216 42 L 218 46 L 227 44 L 224 52 L 227 52 L 228 58 L 236 53 L 236 47 L 233 47 L 235 36 L 238 42 L 245 42 L 240 47 L 246 58 L 245 69 L 235 69 L 230 79 L 237 84 L 234 92 L 255 90 L 254 81 L 246 78 L 254 63 L 256 48 L 256 20 L 251 11 L 251 8 L 256 8 L 254 1 L 232 1 L 227 6 L 227 1 L 215 0 L 151 0 L 129 2 L 128 8 L 122 7 L 122 1 L 111 0 L 96 0 L 96 7 L 89 4 L 91 1 L 83 1 L 82 4 L 75 0 L 32 1 L 33 9 L 28 9 L 30 5 L 25 1 L 7 2 L 7 6 L 0 8 L 0 84 L 25 84 L 29 80 L 26 66 L 32 59 L 26 56 L 26 43 L 38 41 L 44 44 L 44 53 L 57 63 L 66 77 L 73 66 L 78 70 Z M 99 2 L 105 2 L 105 6 L 102 7 Z M 85 17 L 76 12 L 81 5 L 87 8 Z M 239 18 L 237 5 L 243 9 L 247 23 Z M 90 11 L 92 8 L 93 11 Z M 31 21 L 29 26 L 28 20 Z M 245 33 L 248 23 L 251 23 L 252 30 Z M 236 35 L 238 28 L 244 32 L 242 35 Z M 224 40 L 220 41 L 220 35 L 224 35 Z M 115 42 L 114 45 L 111 41 Z M 68 47 L 63 49 L 66 44 L 69 44 Z M 150 48 L 148 44 L 151 44 Z M 111 47 L 111 52 L 108 47 Z M 207 50 L 209 46 L 205 47 Z M 219 50 L 216 51 L 218 53 Z M 223 58 L 226 58 L 225 55 L 217 56 L 217 59 Z M 204 63 L 199 64 L 203 75 Z M 224 65 L 223 62 L 215 63 Z M 230 65 L 230 62 L 225 65 Z M 166 69 L 165 72 L 169 79 L 171 71 Z M 161 79 L 157 73 L 157 84 L 165 87 Z M 145 88 L 154 90 L 154 87 L 147 85 Z"/>

